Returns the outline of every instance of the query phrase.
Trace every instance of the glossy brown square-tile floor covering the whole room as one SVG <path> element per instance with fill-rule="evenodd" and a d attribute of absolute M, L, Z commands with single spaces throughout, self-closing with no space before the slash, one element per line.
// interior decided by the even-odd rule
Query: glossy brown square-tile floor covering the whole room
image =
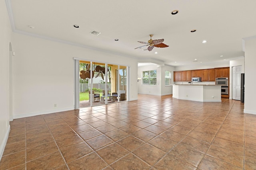
<path fill-rule="evenodd" d="M 0 169 L 256 169 L 256 115 L 243 108 L 139 95 L 15 119 Z"/>

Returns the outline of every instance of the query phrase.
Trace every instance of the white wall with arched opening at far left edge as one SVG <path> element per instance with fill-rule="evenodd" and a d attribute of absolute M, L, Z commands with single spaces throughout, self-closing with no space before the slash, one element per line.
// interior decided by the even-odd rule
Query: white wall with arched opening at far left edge
<path fill-rule="evenodd" d="M 10 131 L 9 43 L 12 29 L 4 0 L 0 1 L 0 160 Z"/>

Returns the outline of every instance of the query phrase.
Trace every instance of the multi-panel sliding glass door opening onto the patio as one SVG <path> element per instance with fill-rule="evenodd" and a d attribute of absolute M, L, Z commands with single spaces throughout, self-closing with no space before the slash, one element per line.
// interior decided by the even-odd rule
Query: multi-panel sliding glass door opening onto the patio
<path fill-rule="evenodd" d="M 126 66 L 79 61 L 79 107 L 125 101 L 126 95 Z"/>

